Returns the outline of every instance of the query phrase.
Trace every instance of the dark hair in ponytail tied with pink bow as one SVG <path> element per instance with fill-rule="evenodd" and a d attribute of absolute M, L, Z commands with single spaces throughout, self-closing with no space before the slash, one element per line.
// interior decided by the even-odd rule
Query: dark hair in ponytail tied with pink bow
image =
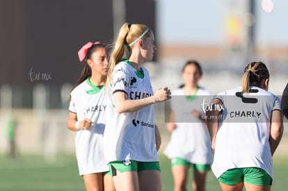
<path fill-rule="evenodd" d="M 73 85 L 70 92 L 72 92 L 72 90 L 74 90 L 74 88 L 76 88 L 77 85 L 79 85 L 80 83 L 82 83 L 91 76 L 92 71 L 87 63 L 87 60 L 91 59 L 93 52 L 103 48 L 106 49 L 106 44 L 103 44 L 102 42 L 95 42 L 95 43 L 88 42 L 87 44 L 84 44 L 83 47 L 78 51 L 79 60 L 83 64 L 83 69 L 77 83 Z M 69 100 L 71 100 L 71 95 Z"/>

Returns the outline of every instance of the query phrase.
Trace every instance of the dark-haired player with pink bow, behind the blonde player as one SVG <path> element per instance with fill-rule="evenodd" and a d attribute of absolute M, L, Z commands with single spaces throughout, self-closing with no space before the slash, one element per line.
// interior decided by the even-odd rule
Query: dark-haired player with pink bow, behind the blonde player
<path fill-rule="evenodd" d="M 70 93 L 67 128 L 76 131 L 75 147 L 79 174 L 86 190 L 114 190 L 104 160 L 103 133 L 107 110 L 104 83 L 108 71 L 105 45 L 88 42 L 78 52 L 83 62 L 79 81 Z"/>

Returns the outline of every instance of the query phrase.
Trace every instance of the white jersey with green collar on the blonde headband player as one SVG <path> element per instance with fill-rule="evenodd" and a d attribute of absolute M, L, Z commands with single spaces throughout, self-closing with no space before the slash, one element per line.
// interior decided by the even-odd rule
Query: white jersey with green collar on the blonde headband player
<path fill-rule="evenodd" d="M 108 119 L 104 132 L 104 148 L 107 163 L 111 161 L 136 160 L 159 161 L 155 146 L 154 106 L 147 106 L 131 113 L 116 113 L 113 108 L 113 92 L 125 92 L 128 99 L 144 99 L 153 95 L 147 69 L 141 67 L 143 76 L 125 62 L 115 66 L 111 75 Z"/>

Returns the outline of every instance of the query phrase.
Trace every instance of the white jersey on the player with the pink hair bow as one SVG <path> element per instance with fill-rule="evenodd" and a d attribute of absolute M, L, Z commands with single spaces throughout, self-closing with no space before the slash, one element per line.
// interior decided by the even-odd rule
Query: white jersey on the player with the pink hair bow
<path fill-rule="evenodd" d="M 71 92 L 69 110 L 77 114 L 77 120 L 88 118 L 94 122 L 88 130 L 77 131 L 75 137 L 79 174 L 109 171 L 104 160 L 103 134 L 107 110 L 104 88 L 97 88 L 89 79 Z"/>

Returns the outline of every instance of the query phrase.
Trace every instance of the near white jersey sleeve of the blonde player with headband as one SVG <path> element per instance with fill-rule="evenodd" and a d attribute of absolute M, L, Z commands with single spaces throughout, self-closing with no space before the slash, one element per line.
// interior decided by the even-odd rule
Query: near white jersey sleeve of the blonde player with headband
<path fill-rule="evenodd" d="M 111 76 L 112 78 L 112 93 L 122 91 L 128 94 L 129 88 L 129 76 L 122 68 L 115 67 L 115 70 Z"/>

